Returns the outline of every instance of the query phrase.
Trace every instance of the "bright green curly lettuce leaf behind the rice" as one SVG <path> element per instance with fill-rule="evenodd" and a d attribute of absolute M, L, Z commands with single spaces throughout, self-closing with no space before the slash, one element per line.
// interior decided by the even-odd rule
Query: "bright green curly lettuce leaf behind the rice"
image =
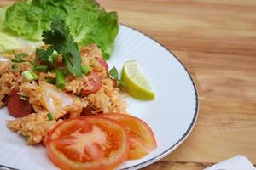
<path fill-rule="evenodd" d="M 96 43 L 104 59 L 109 59 L 119 31 L 117 14 L 94 0 L 23 0 L 7 8 L 4 17 L 0 33 L 29 42 L 40 42 L 51 20 L 61 17 L 79 47 Z"/>

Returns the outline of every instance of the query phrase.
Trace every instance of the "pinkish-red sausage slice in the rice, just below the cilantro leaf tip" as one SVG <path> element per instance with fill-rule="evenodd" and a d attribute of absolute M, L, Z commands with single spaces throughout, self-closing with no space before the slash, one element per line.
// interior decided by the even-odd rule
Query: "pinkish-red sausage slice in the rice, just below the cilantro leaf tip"
<path fill-rule="evenodd" d="M 96 92 L 102 87 L 102 78 L 96 74 L 96 72 L 91 71 L 88 75 L 88 82 L 84 83 L 84 89 L 82 89 L 81 94 L 96 94 Z M 86 89 L 89 88 L 89 89 Z"/>

